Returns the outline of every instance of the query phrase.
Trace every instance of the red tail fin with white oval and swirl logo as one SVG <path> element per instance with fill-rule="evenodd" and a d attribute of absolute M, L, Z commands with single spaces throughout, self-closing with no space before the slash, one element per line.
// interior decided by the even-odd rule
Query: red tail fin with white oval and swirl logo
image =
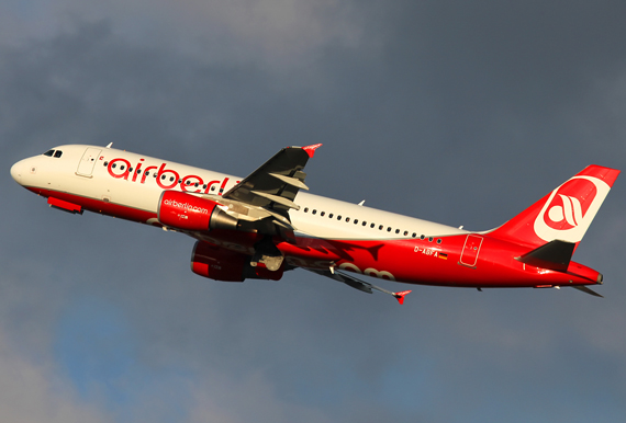
<path fill-rule="evenodd" d="M 618 174 L 589 165 L 489 235 L 533 248 L 554 240 L 578 244 Z"/>

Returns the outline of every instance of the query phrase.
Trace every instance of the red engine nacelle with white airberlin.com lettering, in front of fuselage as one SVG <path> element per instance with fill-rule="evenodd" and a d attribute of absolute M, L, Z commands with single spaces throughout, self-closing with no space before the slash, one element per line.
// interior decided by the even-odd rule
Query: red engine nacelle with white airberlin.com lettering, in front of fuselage
<path fill-rule="evenodd" d="M 238 228 L 238 220 L 222 210 L 219 203 L 179 191 L 164 191 L 157 217 L 161 225 L 182 230 L 211 230 Z"/>

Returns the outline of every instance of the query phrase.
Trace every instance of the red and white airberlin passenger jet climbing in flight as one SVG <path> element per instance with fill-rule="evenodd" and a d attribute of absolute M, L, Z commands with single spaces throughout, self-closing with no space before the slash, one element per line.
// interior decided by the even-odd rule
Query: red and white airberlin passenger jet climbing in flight
<path fill-rule="evenodd" d="M 191 270 L 216 281 L 278 281 L 302 267 L 366 293 L 367 275 L 456 287 L 588 285 L 602 274 L 571 261 L 618 170 L 590 165 L 488 231 L 471 232 L 303 193 L 321 145 L 280 150 L 247 178 L 107 147 L 68 145 L 19 161 L 13 179 L 51 207 L 100 213 L 197 240 Z M 356 276 L 355 276 L 356 275 Z"/>

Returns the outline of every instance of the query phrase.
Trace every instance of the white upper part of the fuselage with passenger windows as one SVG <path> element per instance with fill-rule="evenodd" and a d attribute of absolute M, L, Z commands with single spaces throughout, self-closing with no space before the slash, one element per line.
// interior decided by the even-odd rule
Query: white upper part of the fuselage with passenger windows
<path fill-rule="evenodd" d="M 60 151 L 60 157 L 31 157 L 15 163 L 11 173 L 29 188 L 102 201 L 143 210 L 155 218 L 164 190 L 221 195 L 241 180 L 113 148 L 67 145 L 53 150 Z M 157 180 L 159 170 L 161 179 Z M 466 233 L 458 228 L 304 192 L 298 194 L 295 203 L 300 209 L 290 210 L 290 217 L 299 237 L 394 240 Z"/>

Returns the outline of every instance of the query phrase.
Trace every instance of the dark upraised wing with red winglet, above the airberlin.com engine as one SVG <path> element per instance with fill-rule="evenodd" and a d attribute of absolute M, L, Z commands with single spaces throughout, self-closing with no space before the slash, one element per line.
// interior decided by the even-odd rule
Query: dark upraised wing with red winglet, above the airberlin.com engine
<path fill-rule="evenodd" d="M 289 220 L 289 209 L 300 209 L 293 203 L 295 194 L 299 190 L 309 190 L 304 184 L 306 173 L 302 170 L 320 146 L 283 148 L 222 197 L 262 207 Z"/>

